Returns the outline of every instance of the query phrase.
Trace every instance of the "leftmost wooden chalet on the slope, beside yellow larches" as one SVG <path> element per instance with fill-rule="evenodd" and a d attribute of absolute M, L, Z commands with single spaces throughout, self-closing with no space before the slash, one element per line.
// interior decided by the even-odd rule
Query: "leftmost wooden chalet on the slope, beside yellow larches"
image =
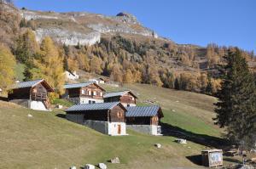
<path fill-rule="evenodd" d="M 17 82 L 10 87 L 8 99 L 33 110 L 49 110 L 48 93 L 51 92 L 54 92 L 54 89 L 44 79 Z"/>

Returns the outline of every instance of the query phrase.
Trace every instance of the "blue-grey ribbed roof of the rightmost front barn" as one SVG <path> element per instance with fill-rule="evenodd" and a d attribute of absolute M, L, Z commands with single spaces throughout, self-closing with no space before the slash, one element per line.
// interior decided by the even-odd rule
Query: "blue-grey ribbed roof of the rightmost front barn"
<path fill-rule="evenodd" d="M 159 105 L 126 107 L 126 117 L 154 116 L 160 110 Z"/>

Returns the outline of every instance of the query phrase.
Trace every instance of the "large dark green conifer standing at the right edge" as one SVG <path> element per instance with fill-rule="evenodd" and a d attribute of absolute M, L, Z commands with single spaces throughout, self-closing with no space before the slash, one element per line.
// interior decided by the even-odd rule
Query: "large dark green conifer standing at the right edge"
<path fill-rule="evenodd" d="M 255 140 L 248 139 L 254 138 L 256 127 L 256 87 L 253 74 L 238 48 L 224 58 L 227 65 L 222 70 L 222 87 L 216 94 L 217 117 L 214 120 L 219 127 L 227 127 L 231 141 L 255 143 Z"/>

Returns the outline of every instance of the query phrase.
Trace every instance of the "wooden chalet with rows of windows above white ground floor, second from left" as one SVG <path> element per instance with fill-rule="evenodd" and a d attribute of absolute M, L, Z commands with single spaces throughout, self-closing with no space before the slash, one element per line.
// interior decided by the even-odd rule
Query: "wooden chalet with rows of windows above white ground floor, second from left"
<path fill-rule="evenodd" d="M 76 84 L 67 84 L 64 86 L 64 99 L 69 99 L 74 104 L 96 104 L 103 103 L 104 88 L 95 82 L 84 82 Z"/>

